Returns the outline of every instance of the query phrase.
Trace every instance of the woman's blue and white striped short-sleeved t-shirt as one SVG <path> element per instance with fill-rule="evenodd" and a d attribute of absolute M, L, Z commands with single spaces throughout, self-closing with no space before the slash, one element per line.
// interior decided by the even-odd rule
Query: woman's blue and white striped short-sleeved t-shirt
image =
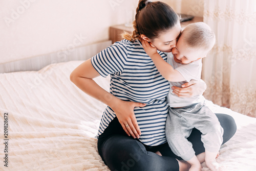
<path fill-rule="evenodd" d="M 167 56 L 158 51 L 166 61 Z M 134 113 L 140 127 L 139 140 L 146 145 L 166 142 L 165 121 L 168 114 L 166 95 L 169 83 L 158 72 L 141 42 L 121 40 L 115 42 L 91 59 L 92 65 L 103 77 L 110 74 L 110 93 L 124 101 L 146 103 L 135 107 Z M 116 117 L 108 106 L 100 120 L 97 137 Z"/>

